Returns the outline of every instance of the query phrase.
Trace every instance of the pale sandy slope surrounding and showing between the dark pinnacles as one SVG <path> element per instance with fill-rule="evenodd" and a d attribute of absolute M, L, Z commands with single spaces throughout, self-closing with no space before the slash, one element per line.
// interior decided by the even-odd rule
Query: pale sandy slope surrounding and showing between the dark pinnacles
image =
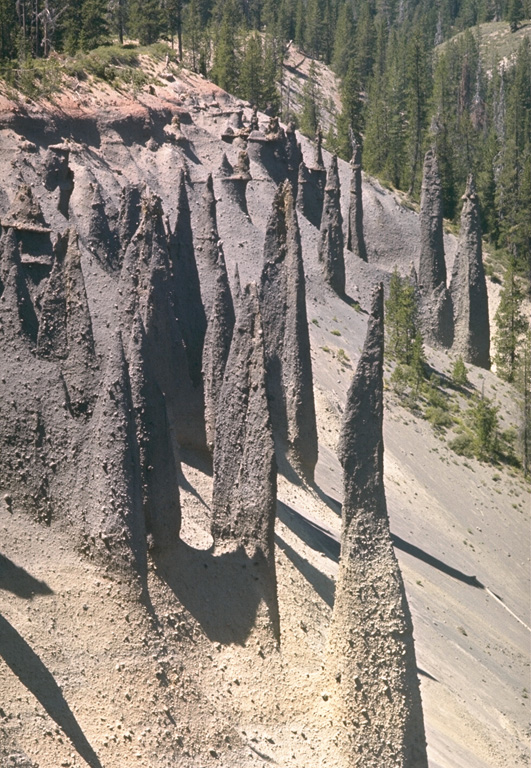
<path fill-rule="evenodd" d="M 154 90 L 132 100 L 88 83 L 55 106 L 4 100 L 0 215 L 24 180 L 52 229 L 64 229 L 55 198 L 39 177 L 47 145 L 63 138 L 71 145 L 76 184 L 70 223 L 82 237 L 89 185 L 96 180 L 111 218 L 125 181 L 146 181 L 173 222 L 182 166 L 195 221 L 208 172 L 216 172 L 223 151 L 236 158 L 237 148 L 220 141 L 234 103 L 186 73 Z M 182 121 L 184 144 L 164 140 L 160 129 L 171 130 L 171 114 L 179 110 L 190 116 Z M 149 130 L 139 140 L 124 140 L 137 130 L 137 119 Z M 156 146 L 149 147 L 153 136 Z M 34 143 L 33 151 L 24 148 L 26 141 Z M 305 140 L 303 150 L 310 161 Z M 340 163 L 345 210 L 348 173 Z M 260 165 L 252 162 L 251 174 L 248 217 L 229 205 L 221 182 L 214 181 L 229 274 L 238 264 L 244 282 L 260 274 L 275 190 Z M 369 291 L 395 264 L 407 273 L 418 259 L 416 214 L 368 179 L 364 195 L 371 264 L 347 257 L 348 293 L 361 312 L 323 285 L 317 231 L 300 221 L 320 459 L 313 487 L 289 473 L 279 478 L 280 648 L 264 642 L 260 606 L 249 602 L 241 574 L 211 552 L 211 478 L 195 457 L 183 456 L 182 541 L 150 563 L 147 606 L 127 580 L 75 550 L 64 517 L 40 524 L 24 509 L 6 505 L 2 491 L 0 765 L 338 765 L 323 681 L 339 556 L 342 482 L 335 445 L 364 340 Z M 449 263 L 454 250 L 449 239 Z M 84 248 L 83 270 L 97 353 L 104 357 L 106 329 L 115 323 L 115 289 Z M 339 348 L 350 362 L 339 362 Z M 449 371 L 447 355 L 428 355 L 437 371 Z M 515 421 L 510 387 L 477 369 L 470 379 L 500 405 L 504 428 Z M 414 620 L 430 766 L 526 766 L 529 485 L 506 467 L 456 456 L 391 393 L 385 446 L 391 530 Z"/>

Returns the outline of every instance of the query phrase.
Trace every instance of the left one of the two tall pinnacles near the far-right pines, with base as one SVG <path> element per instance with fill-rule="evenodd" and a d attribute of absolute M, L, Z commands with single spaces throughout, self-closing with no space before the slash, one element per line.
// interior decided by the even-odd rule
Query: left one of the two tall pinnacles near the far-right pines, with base
<path fill-rule="evenodd" d="M 433 149 L 426 152 L 420 197 L 419 319 L 425 340 L 450 347 L 453 341 L 452 302 L 446 287 L 442 186 Z"/>

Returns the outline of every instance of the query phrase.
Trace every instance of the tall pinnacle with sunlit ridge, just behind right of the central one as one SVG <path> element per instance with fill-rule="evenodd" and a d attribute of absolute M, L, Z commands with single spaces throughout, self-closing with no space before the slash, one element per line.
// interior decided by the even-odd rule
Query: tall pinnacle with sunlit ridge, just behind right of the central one
<path fill-rule="evenodd" d="M 302 249 L 289 181 L 275 195 L 260 284 L 267 394 L 273 432 L 294 466 L 313 480 L 317 426 Z"/>

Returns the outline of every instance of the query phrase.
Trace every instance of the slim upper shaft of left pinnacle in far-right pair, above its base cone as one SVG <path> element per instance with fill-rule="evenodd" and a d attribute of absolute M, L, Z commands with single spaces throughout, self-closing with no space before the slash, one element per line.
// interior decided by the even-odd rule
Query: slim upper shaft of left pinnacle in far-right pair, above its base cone
<path fill-rule="evenodd" d="M 418 280 L 421 291 L 426 294 L 440 285 L 446 287 L 442 186 L 437 155 L 434 149 L 428 149 L 424 158 L 422 190 L 420 194 L 420 264 Z"/>

